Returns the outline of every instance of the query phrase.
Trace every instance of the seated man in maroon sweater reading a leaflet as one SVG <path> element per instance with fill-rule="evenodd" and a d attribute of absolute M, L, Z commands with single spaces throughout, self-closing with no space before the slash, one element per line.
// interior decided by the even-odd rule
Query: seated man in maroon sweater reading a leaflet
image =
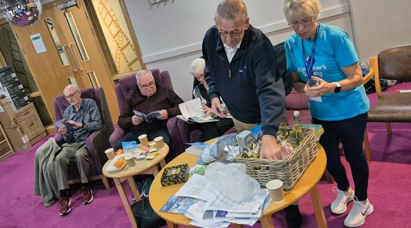
<path fill-rule="evenodd" d="M 171 88 L 157 84 L 151 71 L 138 71 L 136 79 L 138 87 L 125 98 L 119 116 L 119 126 L 128 132 L 124 138 L 116 142 L 114 149 L 122 148 L 121 142 L 138 142 L 138 136 L 142 134 L 147 134 L 149 140 L 162 136 L 166 144 L 171 144 L 170 134 L 166 128 L 167 119 L 180 114 L 178 105 L 184 101 Z M 143 114 L 159 111 L 159 114 L 151 121 L 149 119 L 148 123 L 141 116 L 136 116 L 134 111 Z"/>

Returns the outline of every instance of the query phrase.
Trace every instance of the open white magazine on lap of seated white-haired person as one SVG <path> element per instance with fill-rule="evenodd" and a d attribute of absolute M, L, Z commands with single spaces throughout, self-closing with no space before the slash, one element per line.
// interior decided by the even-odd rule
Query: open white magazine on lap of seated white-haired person
<path fill-rule="evenodd" d="M 178 106 L 180 112 L 182 112 L 182 115 L 178 115 L 176 117 L 182 119 L 183 121 L 194 121 L 197 123 L 219 121 L 208 114 L 204 114 L 199 98 L 180 103 Z"/>

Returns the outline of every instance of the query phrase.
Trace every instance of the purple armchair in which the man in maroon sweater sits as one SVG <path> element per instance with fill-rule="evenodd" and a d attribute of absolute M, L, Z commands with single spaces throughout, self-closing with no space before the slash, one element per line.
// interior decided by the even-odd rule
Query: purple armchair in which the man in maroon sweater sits
<path fill-rule="evenodd" d="M 150 70 L 151 73 L 153 73 L 154 80 L 165 87 L 169 87 L 173 89 L 173 84 L 171 84 L 171 78 L 169 71 L 162 71 L 160 73 L 160 70 L 158 68 Z M 119 109 L 123 109 L 123 105 L 125 102 L 125 97 L 129 92 L 132 90 L 135 90 L 137 87 L 137 81 L 136 77 L 134 75 L 124 77 L 119 81 L 119 84 L 116 85 L 116 96 L 117 96 L 117 101 L 119 103 Z M 176 127 L 176 118 L 172 117 L 169 118 L 169 121 L 167 121 L 167 129 L 169 130 L 169 134 L 171 136 L 171 151 L 175 153 L 175 142 L 178 142 L 177 137 L 179 136 L 177 132 L 177 127 Z M 116 142 L 121 140 L 125 136 L 125 131 L 121 129 L 121 127 L 116 127 L 114 129 L 113 134 L 110 136 L 110 144 L 112 147 L 115 146 Z"/>

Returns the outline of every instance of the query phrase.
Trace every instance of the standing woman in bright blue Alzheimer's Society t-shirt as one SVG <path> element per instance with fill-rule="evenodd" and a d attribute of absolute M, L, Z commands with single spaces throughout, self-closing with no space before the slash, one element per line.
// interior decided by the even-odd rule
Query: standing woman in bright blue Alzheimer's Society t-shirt
<path fill-rule="evenodd" d="M 320 9 L 318 0 L 285 1 L 284 14 L 295 31 L 285 43 L 287 70 L 295 90 L 309 97 L 312 123 L 323 125 L 320 144 L 327 154 L 327 170 L 337 183 L 331 211 L 343 214 L 347 203 L 354 200 L 344 225 L 358 227 L 373 212 L 367 197 L 369 167 L 362 151 L 369 99 L 349 35 L 338 27 L 319 23 Z M 356 192 L 350 188 L 340 160 L 340 142 Z"/>

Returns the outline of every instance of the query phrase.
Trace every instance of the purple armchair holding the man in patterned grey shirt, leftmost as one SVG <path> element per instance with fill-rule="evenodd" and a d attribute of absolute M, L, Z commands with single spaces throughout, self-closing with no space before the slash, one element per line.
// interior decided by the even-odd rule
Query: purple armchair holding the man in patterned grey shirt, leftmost
<path fill-rule="evenodd" d="M 102 173 L 102 167 L 107 162 L 108 158 L 104 151 L 110 148 L 110 143 L 108 142 L 109 136 L 114 131 L 112 119 L 110 117 L 110 112 L 108 109 L 107 102 L 105 101 L 105 95 L 103 88 L 85 88 L 82 89 L 82 98 L 93 99 L 99 107 L 101 121 L 103 123 L 103 128 L 100 131 L 93 132 L 88 136 L 86 140 L 86 145 L 88 153 L 90 153 L 90 175 L 89 180 L 101 179 L 106 189 L 110 189 L 107 177 Z M 61 120 L 63 118 L 64 110 L 69 107 L 69 103 L 63 94 L 58 95 L 54 99 L 54 115 L 55 121 Z M 62 135 L 58 133 L 57 127 L 55 129 L 55 142 L 58 144 L 63 144 L 64 140 Z M 75 161 L 73 160 L 69 164 L 69 184 L 79 183 L 79 173 Z"/>

